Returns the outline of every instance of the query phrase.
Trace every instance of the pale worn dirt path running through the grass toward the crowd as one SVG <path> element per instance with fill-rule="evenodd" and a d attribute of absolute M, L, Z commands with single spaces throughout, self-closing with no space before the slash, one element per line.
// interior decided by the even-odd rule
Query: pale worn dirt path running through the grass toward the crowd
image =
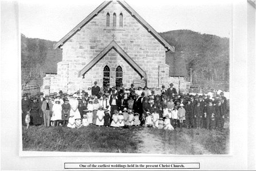
<path fill-rule="evenodd" d="M 143 128 L 137 132 L 137 137 L 140 137 L 143 141 L 143 143 L 140 144 L 137 153 L 166 154 L 166 151 L 163 150 L 165 149 L 163 148 L 165 146 L 163 140 L 160 137 L 149 133 L 148 129 L 152 128 Z"/>

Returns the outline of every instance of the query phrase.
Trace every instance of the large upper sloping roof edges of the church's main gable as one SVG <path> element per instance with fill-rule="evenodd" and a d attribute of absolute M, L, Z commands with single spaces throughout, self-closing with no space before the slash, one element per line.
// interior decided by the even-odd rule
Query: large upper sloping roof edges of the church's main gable
<path fill-rule="evenodd" d="M 68 34 L 66 34 L 59 42 L 55 44 L 55 48 L 62 46 L 69 38 L 71 38 L 77 31 L 79 31 L 83 26 L 85 26 L 89 21 L 91 21 L 96 15 L 100 13 L 105 7 L 107 7 L 112 1 L 104 1 L 101 3 L 99 7 L 97 7 L 92 13 L 88 15 L 82 22 L 80 22 L 76 27 L 74 27 Z M 160 36 L 143 18 L 140 17 L 139 14 L 136 13 L 135 10 L 132 9 L 125 1 L 117 1 L 125 10 L 128 11 L 129 14 L 132 15 L 133 18 L 136 19 L 150 34 L 157 39 L 166 49 L 167 51 L 174 52 L 174 47 L 171 46 L 166 40 Z"/>

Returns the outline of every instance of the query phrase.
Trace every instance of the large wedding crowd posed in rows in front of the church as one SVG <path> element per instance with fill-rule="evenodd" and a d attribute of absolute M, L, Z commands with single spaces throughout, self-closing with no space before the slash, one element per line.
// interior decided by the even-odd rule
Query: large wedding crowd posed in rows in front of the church
<path fill-rule="evenodd" d="M 174 84 L 160 94 L 131 84 L 125 89 L 97 86 L 75 93 L 40 93 L 31 97 L 24 93 L 22 98 L 22 124 L 45 127 L 81 128 L 90 124 L 99 127 L 131 126 L 153 127 L 173 130 L 183 128 L 223 129 L 227 113 L 227 99 L 220 93 L 190 95 L 177 93 Z"/>

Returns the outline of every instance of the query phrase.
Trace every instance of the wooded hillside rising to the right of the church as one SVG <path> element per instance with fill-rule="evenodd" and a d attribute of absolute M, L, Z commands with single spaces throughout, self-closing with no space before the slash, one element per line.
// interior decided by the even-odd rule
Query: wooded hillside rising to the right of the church
<path fill-rule="evenodd" d="M 229 38 L 191 30 L 174 30 L 160 35 L 175 47 L 172 55 L 184 57 L 188 81 L 192 68 L 192 86 L 229 89 Z"/>

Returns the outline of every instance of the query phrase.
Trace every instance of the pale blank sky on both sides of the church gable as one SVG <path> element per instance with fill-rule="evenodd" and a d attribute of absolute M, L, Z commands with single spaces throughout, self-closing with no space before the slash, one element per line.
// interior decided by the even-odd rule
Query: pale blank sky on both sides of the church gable
<path fill-rule="evenodd" d="M 29 38 L 58 41 L 103 1 L 19 1 L 19 29 Z M 229 38 L 231 1 L 126 1 L 157 32 L 192 30 Z"/>

